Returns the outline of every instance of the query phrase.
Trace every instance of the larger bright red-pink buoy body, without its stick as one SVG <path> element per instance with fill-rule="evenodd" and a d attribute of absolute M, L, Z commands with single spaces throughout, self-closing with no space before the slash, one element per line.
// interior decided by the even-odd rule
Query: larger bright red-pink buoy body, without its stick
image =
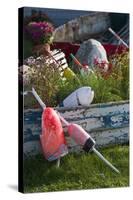
<path fill-rule="evenodd" d="M 42 114 L 42 134 L 40 135 L 43 154 L 48 161 L 56 160 L 68 153 L 61 121 L 56 111 L 50 107 Z"/>

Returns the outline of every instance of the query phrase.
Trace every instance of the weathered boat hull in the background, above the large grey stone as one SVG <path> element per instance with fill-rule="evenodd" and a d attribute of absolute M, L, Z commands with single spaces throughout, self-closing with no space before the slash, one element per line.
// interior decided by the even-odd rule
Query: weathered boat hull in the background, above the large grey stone
<path fill-rule="evenodd" d="M 110 26 L 108 13 L 96 12 L 80 16 L 58 26 L 54 31 L 54 42 L 81 42 L 96 38 Z"/>

